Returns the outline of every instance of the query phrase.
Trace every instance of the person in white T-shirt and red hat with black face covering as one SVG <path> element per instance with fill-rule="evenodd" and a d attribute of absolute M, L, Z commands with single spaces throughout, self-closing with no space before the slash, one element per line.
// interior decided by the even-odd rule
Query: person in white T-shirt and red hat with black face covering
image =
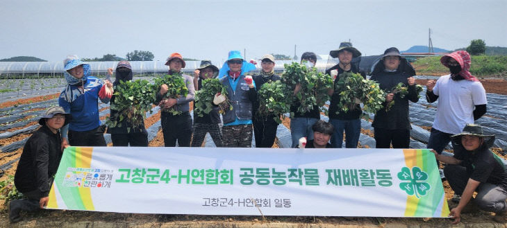
<path fill-rule="evenodd" d="M 444 55 L 440 63 L 449 68 L 450 74 L 440 76 L 436 82 L 426 82 L 428 103 L 438 100 L 426 148 L 439 154 L 449 145 L 453 134 L 460 133 L 467 123 L 474 123 L 486 113 L 488 103 L 483 85 L 469 72 L 472 62 L 467 51 Z"/>

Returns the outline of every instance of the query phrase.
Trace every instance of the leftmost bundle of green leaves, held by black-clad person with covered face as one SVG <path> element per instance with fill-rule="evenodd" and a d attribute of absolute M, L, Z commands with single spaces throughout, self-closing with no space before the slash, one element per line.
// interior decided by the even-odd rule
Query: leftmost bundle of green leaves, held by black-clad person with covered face
<path fill-rule="evenodd" d="M 151 105 L 155 102 L 155 89 L 147 80 L 120 81 L 115 86 L 115 102 L 110 109 L 117 111 L 109 116 L 107 124 L 110 128 L 122 127 L 122 121 L 131 123 L 138 128 L 144 123 L 144 114 L 151 112 Z M 127 128 L 130 132 L 131 128 Z"/>

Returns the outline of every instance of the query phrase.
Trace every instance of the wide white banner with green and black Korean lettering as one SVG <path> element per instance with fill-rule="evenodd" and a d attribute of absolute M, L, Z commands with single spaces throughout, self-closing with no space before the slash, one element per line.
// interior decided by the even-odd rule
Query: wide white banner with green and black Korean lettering
<path fill-rule="evenodd" d="M 429 150 L 69 147 L 48 209 L 446 217 Z"/>

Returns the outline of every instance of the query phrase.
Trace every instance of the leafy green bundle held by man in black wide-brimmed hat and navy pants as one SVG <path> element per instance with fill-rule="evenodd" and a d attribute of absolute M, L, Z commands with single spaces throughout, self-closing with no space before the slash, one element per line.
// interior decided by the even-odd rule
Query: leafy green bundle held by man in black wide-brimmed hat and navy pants
<path fill-rule="evenodd" d="M 356 99 L 363 102 L 363 111 L 375 114 L 383 107 L 385 92 L 379 83 L 363 78 L 359 73 L 346 72 L 338 76 L 335 92 L 340 94 L 338 110 L 348 112 L 356 108 Z"/>

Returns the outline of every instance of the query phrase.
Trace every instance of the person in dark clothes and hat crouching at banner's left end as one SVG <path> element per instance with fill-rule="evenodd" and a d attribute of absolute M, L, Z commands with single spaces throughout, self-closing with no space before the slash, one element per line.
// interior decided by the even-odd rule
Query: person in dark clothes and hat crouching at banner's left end
<path fill-rule="evenodd" d="M 62 107 L 49 107 L 40 117 L 41 127 L 25 143 L 14 175 L 17 190 L 26 197 L 9 202 L 10 222 L 22 220 L 20 211 L 38 211 L 49 201 L 49 189 L 62 158 L 60 128 L 72 120 Z"/>

